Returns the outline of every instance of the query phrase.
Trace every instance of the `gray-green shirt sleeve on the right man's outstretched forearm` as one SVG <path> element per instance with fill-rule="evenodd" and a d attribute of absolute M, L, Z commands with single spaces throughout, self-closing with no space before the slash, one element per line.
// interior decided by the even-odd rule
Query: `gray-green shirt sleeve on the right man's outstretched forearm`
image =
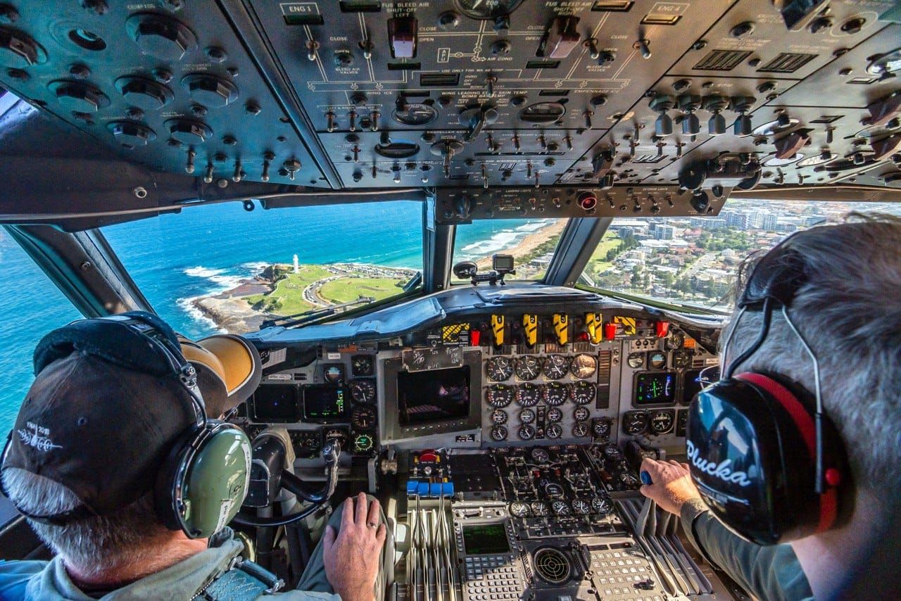
<path fill-rule="evenodd" d="M 760 599 L 813 599 L 804 570 L 787 544 L 761 546 L 726 528 L 704 501 L 694 498 L 681 511 L 682 529 L 707 561 L 723 569 Z"/>

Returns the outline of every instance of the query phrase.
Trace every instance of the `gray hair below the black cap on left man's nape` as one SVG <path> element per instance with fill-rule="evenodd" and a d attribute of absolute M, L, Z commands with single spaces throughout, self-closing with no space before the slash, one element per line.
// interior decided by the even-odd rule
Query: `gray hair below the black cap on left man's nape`
<path fill-rule="evenodd" d="M 10 500 L 29 514 L 59 514 L 80 505 L 68 487 L 24 469 L 5 469 L 3 484 Z M 28 523 L 43 542 L 83 576 L 96 576 L 143 559 L 153 539 L 168 532 L 154 513 L 152 492 L 112 514 L 91 516 L 64 526 L 32 519 Z"/>

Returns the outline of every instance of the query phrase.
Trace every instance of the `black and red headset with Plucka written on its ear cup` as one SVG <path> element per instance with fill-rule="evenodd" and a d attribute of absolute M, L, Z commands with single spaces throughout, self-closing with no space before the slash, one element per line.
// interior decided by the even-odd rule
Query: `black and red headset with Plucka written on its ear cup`
<path fill-rule="evenodd" d="M 850 478 L 842 441 L 824 414 L 819 363 L 788 312 L 807 281 L 803 256 L 790 241 L 751 271 L 724 357 L 746 312 L 762 313 L 758 339 L 695 396 L 687 422 L 688 463 L 701 496 L 726 526 L 758 544 L 824 532 L 850 513 L 850 503 L 840 504 L 839 487 L 847 490 L 842 480 Z M 813 363 L 813 396 L 778 373 L 734 375 L 766 341 L 774 310 Z"/>

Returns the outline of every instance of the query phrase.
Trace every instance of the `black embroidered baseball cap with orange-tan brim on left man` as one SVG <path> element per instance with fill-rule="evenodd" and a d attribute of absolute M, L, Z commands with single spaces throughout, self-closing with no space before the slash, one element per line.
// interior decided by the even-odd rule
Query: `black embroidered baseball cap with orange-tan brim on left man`
<path fill-rule="evenodd" d="M 196 429 L 187 387 L 135 333 L 135 323 L 196 368 L 209 417 L 259 384 L 259 353 L 247 341 L 232 335 L 189 341 L 156 315 L 79 320 L 47 334 L 34 351 L 36 377 L 9 434 L 2 469 L 24 469 L 70 489 L 83 506 L 67 519 L 107 514 L 150 492 L 172 448 Z M 65 521 L 57 517 L 44 521 Z"/>

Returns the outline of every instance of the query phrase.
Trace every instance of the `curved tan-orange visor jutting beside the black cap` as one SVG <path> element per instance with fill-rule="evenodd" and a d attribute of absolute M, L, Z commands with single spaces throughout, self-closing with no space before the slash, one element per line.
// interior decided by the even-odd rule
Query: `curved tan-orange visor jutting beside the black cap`
<path fill-rule="evenodd" d="M 253 394 L 262 378 L 259 352 L 241 336 L 216 334 L 199 341 L 180 339 L 185 358 L 195 365 L 206 412 L 219 417 Z"/>

